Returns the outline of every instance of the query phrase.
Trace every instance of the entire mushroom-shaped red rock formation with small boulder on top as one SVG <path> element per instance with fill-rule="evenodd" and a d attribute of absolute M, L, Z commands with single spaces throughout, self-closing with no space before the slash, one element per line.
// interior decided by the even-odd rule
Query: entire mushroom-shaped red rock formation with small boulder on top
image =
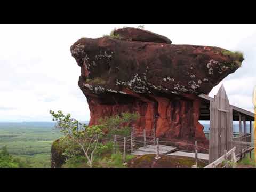
<path fill-rule="evenodd" d="M 124 28 L 114 36 L 82 38 L 71 46 L 81 67 L 78 85 L 98 119 L 138 112 L 135 130 L 157 137 L 205 140 L 200 100 L 243 61 L 219 47 L 174 45 L 161 35 Z M 119 34 L 119 35 L 118 35 Z M 155 128 L 154 128 L 155 127 Z"/>

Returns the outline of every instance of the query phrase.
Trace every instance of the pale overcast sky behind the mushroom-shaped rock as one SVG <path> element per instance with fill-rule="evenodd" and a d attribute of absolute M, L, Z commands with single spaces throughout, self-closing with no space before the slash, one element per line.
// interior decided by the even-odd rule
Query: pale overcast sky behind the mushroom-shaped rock
<path fill-rule="evenodd" d="M 82 37 L 98 38 L 115 27 L 139 25 L 143 24 L 0 25 L 0 121 L 51 121 L 50 109 L 89 120 L 86 98 L 77 85 L 80 68 L 70 46 Z M 253 111 L 256 25 L 146 24 L 145 29 L 168 37 L 173 44 L 242 51 L 242 67 L 221 83 L 231 104 Z"/>

